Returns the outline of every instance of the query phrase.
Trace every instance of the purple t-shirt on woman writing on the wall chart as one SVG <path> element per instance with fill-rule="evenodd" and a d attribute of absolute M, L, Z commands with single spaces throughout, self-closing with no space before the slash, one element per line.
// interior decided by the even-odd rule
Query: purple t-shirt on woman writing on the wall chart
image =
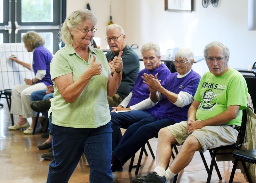
<path fill-rule="evenodd" d="M 40 69 L 46 70 L 46 74 L 42 80 L 37 83 L 44 83 L 46 86 L 53 85 L 50 74 L 50 63 L 52 60 L 52 53 L 43 46 L 37 47 L 33 52 L 33 69 L 36 72 Z"/>

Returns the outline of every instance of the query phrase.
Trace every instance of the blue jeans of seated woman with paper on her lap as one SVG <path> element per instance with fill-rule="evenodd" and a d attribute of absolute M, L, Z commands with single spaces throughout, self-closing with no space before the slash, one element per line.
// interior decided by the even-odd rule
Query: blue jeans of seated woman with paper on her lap
<path fill-rule="evenodd" d="M 132 124 L 140 121 L 141 119 L 151 116 L 150 112 L 142 110 L 134 110 L 129 112 L 110 112 L 112 124 L 112 150 L 116 149 L 116 146 L 121 141 L 122 132 L 120 128 L 127 129 Z"/>

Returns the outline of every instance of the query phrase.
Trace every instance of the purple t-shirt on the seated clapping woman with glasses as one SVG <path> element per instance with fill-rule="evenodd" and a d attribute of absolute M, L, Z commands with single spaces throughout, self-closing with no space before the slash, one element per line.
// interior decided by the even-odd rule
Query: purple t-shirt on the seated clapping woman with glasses
<path fill-rule="evenodd" d="M 194 97 L 200 78 L 201 76 L 193 70 L 183 78 L 177 78 L 177 72 L 174 72 L 164 80 L 162 86 L 173 93 L 179 94 L 180 91 L 184 91 Z M 160 107 L 152 112 L 152 115 L 157 119 L 170 118 L 177 123 L 188 119 L 188 108 L 191 104 L 180 108 L 162 94 L 159 105 Z"/>

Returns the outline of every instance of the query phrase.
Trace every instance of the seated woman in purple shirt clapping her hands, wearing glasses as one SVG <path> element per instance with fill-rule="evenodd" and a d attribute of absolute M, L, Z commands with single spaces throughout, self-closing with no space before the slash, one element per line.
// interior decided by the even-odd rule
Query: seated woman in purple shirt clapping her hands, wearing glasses
<path fill-rule="evenodd" d="M 117 170 L 129 160 L 149 139 L 157 137 L 163 127 L 179 123 L 188 118 L 188 108 L 193 102 L 200 75 L 191 67 L 194 54 L 182 48 L 175 54 L 174 66 L 177 72 L 169 74 L 161 84 L 156 75 L 144 73 L 142 78 L 148 85 L 150 99 L 159 107 L 151 115 L 127 128 L 112 152 L 112 174 L 117 178 Z"/>

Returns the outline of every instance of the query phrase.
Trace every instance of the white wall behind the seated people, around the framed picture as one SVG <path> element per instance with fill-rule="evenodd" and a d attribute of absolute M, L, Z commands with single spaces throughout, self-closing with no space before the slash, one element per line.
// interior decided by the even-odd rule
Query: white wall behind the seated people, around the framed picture
<path fill-rule="evenodd" d="M 67 15 L 85 7 L 85 1 L 67 0 Z M 248 0 L 219 0 L 218 7 L 203 8 L 201 0 L 194 0 L 194 11 L 164 11 L 164 0 L 88 0 L 96 15 L 102 47 L 107 42 L 105 28 L 112 2 L 113 22 L 121 25 L 127 44 L 153 41 L 161 53 L 173 47 L 189 47 L 196 56 L 203 56 L 206 44 L 220 41 L 230 49 L 229 65 L 245 68 L 256 61 L 256 31 L 247 30 Z"/>

